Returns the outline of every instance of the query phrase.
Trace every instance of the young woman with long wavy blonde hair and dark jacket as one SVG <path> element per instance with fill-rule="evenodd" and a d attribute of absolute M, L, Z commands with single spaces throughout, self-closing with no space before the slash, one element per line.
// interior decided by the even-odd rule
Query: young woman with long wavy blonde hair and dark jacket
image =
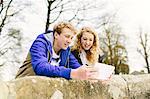
<path fill-rule="evenodd" d="M 83 27 L 77 35 L 72 54 L 81 65 L 94 65 L 99 60 L 98 34 L 89 27 Z"/>

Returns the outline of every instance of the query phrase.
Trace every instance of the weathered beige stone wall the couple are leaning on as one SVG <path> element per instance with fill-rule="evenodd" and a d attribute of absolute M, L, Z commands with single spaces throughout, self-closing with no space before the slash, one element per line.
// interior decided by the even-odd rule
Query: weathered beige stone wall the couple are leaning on
<path fill-rule="evenodd" d="M 103 83 L 24 77 L 0 82 L 0 99 L 150 99 L 150 75 L 114 75 Z"/>

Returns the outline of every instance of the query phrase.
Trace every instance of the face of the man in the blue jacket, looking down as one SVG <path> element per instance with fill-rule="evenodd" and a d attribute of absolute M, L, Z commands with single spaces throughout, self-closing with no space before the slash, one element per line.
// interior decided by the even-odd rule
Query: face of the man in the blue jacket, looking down
<path fill-rule="evenodd" d="M 71 31 L 68 28 L 62 29 L 61 34 L 58 34 L 55 36 L 55 39 L 57 40 L 57 47 L 59 49 L 67 49 L 69 44 L 72 42 L 74 36 L 74 32 Z"/>

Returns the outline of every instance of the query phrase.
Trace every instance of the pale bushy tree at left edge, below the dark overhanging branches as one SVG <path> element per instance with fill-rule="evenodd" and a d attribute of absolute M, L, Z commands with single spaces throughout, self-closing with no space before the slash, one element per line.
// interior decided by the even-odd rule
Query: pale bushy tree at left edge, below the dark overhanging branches
<path fill-rule="evenodd" d="M 0 45 L 0 65 L 3 66 L 7 62 L 11 63 L 20 63 L 17 56 L 21 52 L 21 40 L 22 34 L 19 30 L 9 29 L 8 35 L 5 35 L 1 38 Z M 10 59 L 12 58 L 13 59 Z M 10 59 L 10 61 L 9 61 Z M 2 62 L 3 61 L 3 62 Z"/>

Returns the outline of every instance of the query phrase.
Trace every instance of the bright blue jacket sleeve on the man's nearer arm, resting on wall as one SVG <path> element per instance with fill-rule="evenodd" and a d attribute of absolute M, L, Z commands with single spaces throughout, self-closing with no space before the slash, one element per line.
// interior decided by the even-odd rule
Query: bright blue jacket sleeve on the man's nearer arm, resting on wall
<path fill-rule="evenodd" d="M 70 79 L 70 68 L 65 68 L 63 66 L 53 66 L 48 62 L 48 46 L 45 42 L 35 40 L 30 48 L 31 63 L 34 72 L 41 76 L 63 77 Z"/>

